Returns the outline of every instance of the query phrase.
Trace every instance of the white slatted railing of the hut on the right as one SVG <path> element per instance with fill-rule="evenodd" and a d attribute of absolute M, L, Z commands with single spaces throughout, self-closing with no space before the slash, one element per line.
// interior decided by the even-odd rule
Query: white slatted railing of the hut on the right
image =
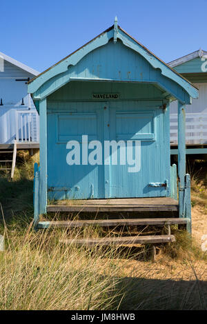
<path fill-rule="evenodd" d="M 170 143 L 177 144 L 177 114 L 170 114 Z M 186 144 L 207 144 L 206 113 L 186 113 Z"/>

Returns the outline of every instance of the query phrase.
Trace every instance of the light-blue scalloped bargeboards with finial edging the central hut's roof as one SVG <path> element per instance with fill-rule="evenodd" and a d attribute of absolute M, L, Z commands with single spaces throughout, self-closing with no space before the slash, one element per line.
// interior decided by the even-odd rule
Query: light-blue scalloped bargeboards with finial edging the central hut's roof
<path fill-rule="evenodd" d="M 41 85 L 43 85 L 48 80 L 54 77 L 57 78 L 58 75 L 61 76 L 61 74 L 67 72 L 69 65 L 76 65 L 84 56 L 86 56 L 86 54 L 92 52 L 92 50 L 95 50 L 96 48 L 106 45 L 106 43 L 108 43 L 108 41 L 112 38 L 114 39 L 114 43 L 117 42 L 117 39 L 120 39 L 122 43 L 126 45 L 126 47 L 135 50 L 135 52 L 141 54 L 141 56 L 144 57 L 144 59 L 146 59 L 146 61 L 148 61 L 148 63 L 150 63 L 150 65 L 152 65 L 153 68 L 161 70 L 161 74 L 164 77 L 175 81 L 175 83 L 181 86 L 181 88 L 186 90 L 190 97 L 198 97 L 197 89 L 188 80 L 182 77 L 175 70 L 172 70 L 172 68 L 170 68 L 169 65 L 164 63 L 164 61 L 161 61 L 161 59 L 156 57 L 155 54 L 150 52 L 150 50 L 144 47 L 144 45 L 141 45 L 141 43 L 139 43 L 136 39 L 131 37 L 127 32 L 125 32 L 125 30 L 123 30 L 120 26 L 117 25 L 116 19 L 115 24 L 112 25 L 110 28 L 99 34 L 97 37 L 95 37 L 94 39 L 83 45 L 81 48 L 59 61 L 55 65 L 52 65 L 50 68 L 48 68 L 48 70 L 42 72 L 37 77 L 34 77 L 34 79 L 30 80 L 28 82 L 28 92 L 32 94 L 37 94 L 37 90 L 41 88 Z M 61 86 L 60 82 L 57 83 L 59 84 L 59 86 Z M 55 86 L 52 89 L 53 91 L 55 90 Z M 37 94 L 36 99 L 41 100 L 43 99 L 43 97 L 47 97 L 47 95 L 48 94 L 44 94 L 41 97 L 39 97 L 39 94 Z"/>

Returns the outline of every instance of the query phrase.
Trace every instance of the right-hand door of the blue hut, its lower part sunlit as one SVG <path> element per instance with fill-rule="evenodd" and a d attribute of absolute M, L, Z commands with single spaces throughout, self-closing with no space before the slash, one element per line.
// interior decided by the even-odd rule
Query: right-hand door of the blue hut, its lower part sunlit
<path fill-rule="evenodd" d="M 147 103 L 110 103 L 110 141 L 133 141 L 132 156 L 135 160 L 135 140 L 140 141 L 137 150 L 138 172 L 130 172 L 128 163 L 120 165 L 121 148 L 117 149 L 118 163 L 110 161 L 110 197 L 168 196 L 168 187 L 152 187 L 153 183 L 168 183 L 169 166 L 164 114 L 159 106 Z M 121 152 L 121 153 L 120 153 Z"/>

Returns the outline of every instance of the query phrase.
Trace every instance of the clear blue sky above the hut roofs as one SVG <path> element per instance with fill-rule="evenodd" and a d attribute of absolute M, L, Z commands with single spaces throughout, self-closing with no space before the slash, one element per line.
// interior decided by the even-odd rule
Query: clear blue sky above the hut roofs
<path fill-rule="evenodd" d="M 103 30 L 119 25 L 166 62 L 207 50 L 207 0 L 7 0 L 0 52 L 42 72 Z"/>

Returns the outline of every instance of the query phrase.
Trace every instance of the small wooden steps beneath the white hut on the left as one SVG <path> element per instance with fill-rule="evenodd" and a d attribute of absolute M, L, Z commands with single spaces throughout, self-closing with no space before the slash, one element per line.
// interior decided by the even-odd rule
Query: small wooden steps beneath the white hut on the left
<path fill-rule="evenodd" d="M 10 172 L 10 179 L 14 177 L 14 168 L 17 158 L 17 141 L 14 141 L 13 148 L 0 150 L 0 172 Z"/>

